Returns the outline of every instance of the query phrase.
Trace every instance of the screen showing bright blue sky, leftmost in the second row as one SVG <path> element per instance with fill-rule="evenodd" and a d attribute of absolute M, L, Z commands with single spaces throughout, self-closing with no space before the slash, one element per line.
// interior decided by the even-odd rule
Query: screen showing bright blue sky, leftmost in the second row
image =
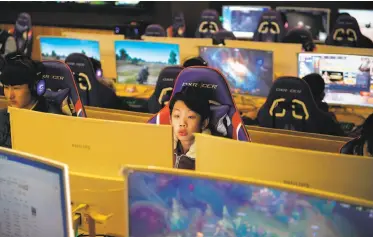
<path fill-rule="evenodd" d="M 42 60 L 65 61 L 72 53 L 82 53 L 100 60 L 100 44 L 94 40 L 40 37 L 40 52 Z"/>

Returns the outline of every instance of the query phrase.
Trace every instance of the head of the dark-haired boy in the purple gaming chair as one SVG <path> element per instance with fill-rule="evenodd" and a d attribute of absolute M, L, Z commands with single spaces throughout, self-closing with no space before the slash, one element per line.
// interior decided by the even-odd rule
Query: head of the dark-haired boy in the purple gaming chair
<path fill-rule="evenodd" d="M 210 106 L 200 88 L 184 87 L 170 103 L 171 124 L 179 141 L 191 141 L 193 133 L 206 129 L 210 121 Z"/>

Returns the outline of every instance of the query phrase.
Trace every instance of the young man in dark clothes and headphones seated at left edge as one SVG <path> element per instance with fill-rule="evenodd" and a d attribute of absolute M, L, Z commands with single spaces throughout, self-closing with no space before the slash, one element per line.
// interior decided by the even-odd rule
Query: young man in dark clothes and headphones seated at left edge
<path fill-rule="evenodd" d="M 29 58 L 7 60 L 2 69 L 0 82 L 4 95 L 11 107 L 39 112 L 63 114 L 60 106 L 51 104 L 36 92 L 36 82 L 40 79 L 38 70 Z M 7 109 L 0 110 L 0 146 L 12 148 L 10 121 Z M 26 119 L 26 118 L 25 118 Z"/>

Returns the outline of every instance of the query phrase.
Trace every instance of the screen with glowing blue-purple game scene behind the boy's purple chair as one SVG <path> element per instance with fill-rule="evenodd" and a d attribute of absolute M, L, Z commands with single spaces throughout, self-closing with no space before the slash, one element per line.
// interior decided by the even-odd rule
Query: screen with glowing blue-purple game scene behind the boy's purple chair
<path fill-rule="evenodd" d="M 232 93 L 267 96 L 273 81 L 272 51 L 200 47 L 200 56 L 227 78 Z"/>

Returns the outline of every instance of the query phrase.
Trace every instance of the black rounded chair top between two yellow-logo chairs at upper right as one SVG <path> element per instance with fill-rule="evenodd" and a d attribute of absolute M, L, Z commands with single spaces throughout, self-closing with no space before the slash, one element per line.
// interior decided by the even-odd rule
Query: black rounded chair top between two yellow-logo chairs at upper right
<path fill-rule="evenodd" d="M 305 52 L 312 52 L 316 45 L 313 43 L 312 34 L 306 28 L 294 28 L 284 37 L 283 43 L 302 44 Z"/>

